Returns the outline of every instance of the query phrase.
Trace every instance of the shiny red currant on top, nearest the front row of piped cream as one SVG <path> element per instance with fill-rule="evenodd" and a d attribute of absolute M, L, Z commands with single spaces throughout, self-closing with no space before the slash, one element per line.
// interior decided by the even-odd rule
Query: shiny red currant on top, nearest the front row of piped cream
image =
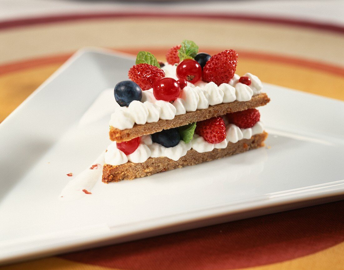
<path fill-rule="evenodd" d="M 153 95 L 158 100 L 173 101 L 179 97 L 180 87 L 175 79 L 162 78 L 153 85 Z"/>

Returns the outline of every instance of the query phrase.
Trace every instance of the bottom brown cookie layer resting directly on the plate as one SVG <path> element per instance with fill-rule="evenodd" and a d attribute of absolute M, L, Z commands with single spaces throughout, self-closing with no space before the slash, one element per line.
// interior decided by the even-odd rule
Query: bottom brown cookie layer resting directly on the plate
<path fill-rule="evenodd" d="M 187 151 L 179 160 L 161 158 L 149 158 L 143 163 L 127 162 L 122 165 L 112 166 L 105 164 L 103 168 L 104 183 L 119 182 L 121 180 L 133 180 L 135 178 L 152 175 L 158 172 L 169 171 L 185 166 L 196 165 L 205 161 L 212 161 L 238 153 L 246 152 L 264 146 L 264 140 L 268 133 L 263 132 L 252 136 L 250 139 L 242 139 L 236 143 L 228 143 L 224 149 L 214 149 L 210 152 L 198 153 L 194 149 Z"/>

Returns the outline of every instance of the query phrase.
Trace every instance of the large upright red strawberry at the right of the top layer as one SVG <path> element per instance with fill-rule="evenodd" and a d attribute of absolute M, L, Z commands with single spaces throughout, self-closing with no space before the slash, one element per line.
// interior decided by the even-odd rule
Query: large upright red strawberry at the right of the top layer
<path fill-rule="evenodd" d="M 214 82 L 217 85 L 228 83 L 234 76 L 237 59 L 238 54 L 234 50 L 226 50 L 213 55 L 203 68 L 203 81 Z"/>

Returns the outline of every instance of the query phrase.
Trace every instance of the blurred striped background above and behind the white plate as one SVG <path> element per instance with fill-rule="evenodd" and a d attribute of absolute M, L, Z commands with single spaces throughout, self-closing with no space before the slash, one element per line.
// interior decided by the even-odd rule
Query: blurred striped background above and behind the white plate
<path fill-rule="evenodd" d="M 344 99 L 344 1 L 0 0 L 0 121 L 75 51 L 136 55 L 184 39 L 239 53 L 238 74 Z"/>

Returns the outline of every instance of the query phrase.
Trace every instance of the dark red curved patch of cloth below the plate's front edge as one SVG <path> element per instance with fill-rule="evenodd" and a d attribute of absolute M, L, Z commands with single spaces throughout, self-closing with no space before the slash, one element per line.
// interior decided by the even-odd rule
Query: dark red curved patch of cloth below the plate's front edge
<path fill-rule="evenodd" d="M 343 209 L 344 201 L 340 201 L 60 257 L 130 270 L 261 266 L 313 254 L 343 242 Z"/>

